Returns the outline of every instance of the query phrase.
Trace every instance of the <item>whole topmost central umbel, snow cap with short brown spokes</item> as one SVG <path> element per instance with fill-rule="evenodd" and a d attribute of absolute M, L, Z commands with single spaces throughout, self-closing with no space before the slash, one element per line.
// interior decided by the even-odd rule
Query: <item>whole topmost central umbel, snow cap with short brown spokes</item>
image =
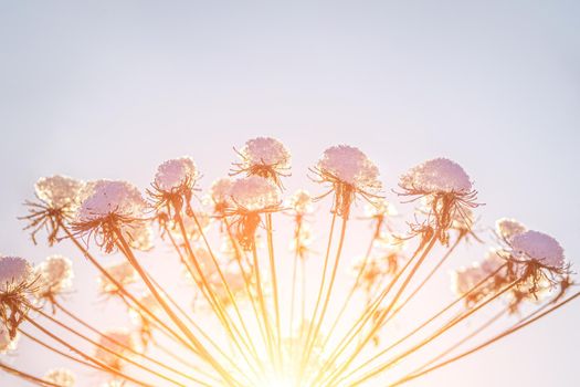
<path fill-rule="evenodd" d="M 232 175 L 246 174 L 246 176 L 260 176 L 272 180 L 282 187 L 281 176 L 286 172 L 291 165 L 291 154 L 280 140 L 272 137 L 257 137 L 249 139 L 244 147 L 238 153 L 240 163 L 234 163 Z"/>

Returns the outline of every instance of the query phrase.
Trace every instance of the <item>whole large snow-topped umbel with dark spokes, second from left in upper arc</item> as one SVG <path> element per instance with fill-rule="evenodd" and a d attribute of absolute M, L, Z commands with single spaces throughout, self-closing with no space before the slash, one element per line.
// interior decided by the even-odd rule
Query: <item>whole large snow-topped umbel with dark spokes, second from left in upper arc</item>
<path fill-rule="evenodd" d="M 98 180 L 82 202 L 73 230 L 109 253 L 124 232 L 130 234 L 141 227 L 146 207 L 141 194 L 130 182 Z"/>

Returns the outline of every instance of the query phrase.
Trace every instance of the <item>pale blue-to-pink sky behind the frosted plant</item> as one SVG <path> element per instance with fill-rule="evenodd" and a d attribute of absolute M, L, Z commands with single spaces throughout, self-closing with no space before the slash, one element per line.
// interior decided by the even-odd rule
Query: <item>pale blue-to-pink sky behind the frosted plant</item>
<path fill-rule="evenodd" d="M 560 0 L 0 0 L 0 251 L 56 252 L 17 220 L 41 176 L 146 188 L 162 160 L 191 155 L 207 187 L 233 146 L 265 135 L 293 151 L 291 187 L 335 144 L 366 151 L 389 189 L 452 158 L 482 223 L 515 217 L 578 268 L 579 18 Z M 572 304 L 414 385 L 578 386 L 579 324 Z M 21 349 L 9 360 L 25 369 L 57 364 Z"/>

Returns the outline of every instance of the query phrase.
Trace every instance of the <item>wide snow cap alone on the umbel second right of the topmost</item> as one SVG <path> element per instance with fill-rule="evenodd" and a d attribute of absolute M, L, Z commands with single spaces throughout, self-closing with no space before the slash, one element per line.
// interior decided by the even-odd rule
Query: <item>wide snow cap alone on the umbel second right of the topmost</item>
<path fill-rule="evenodd" d="M 405 190 L 423 194 L 467 195 L 473 190 L 465 170 L 446 158 L 435 158 L 411 168 L 401 176 L 400 186 Z"/>

